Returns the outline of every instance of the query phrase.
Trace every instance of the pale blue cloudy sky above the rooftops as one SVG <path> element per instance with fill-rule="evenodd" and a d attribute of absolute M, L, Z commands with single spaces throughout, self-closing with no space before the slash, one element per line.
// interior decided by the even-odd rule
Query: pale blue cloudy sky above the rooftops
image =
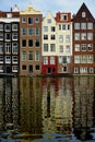
<path fill-rule="evenodd" d="M 41 11 L 44 15 L 48 11 L 51 11 L 54 16 L 57 12 L 71 12 L 73 15 L 79 11 L 83 2 L 95 17 L 95 0 L 0 0 L 0 10 L 10 11 L 15 4 L 20 10 L 26 10 L 28 4 L 32 3 L 33 8 Z"/>

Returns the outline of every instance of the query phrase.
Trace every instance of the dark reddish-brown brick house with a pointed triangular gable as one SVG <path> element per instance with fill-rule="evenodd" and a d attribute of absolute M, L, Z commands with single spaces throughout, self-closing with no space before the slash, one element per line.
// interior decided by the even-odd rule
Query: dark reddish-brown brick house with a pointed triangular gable
<path fill-rule="evenodd" d="M 83 3 L 73 16 L 73 60 L 74 74 L 95 73 L 95 20 Z"/>

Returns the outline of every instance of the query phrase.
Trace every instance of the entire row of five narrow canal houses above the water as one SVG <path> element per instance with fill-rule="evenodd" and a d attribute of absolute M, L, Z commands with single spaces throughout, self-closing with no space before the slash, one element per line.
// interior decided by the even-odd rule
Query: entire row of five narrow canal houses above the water
<path fill-rule="evenodd" d="M 83 3 L 76 14 L 28 4 L 0 11 L 0 74 L 95 74 L 95 19 Z"/>

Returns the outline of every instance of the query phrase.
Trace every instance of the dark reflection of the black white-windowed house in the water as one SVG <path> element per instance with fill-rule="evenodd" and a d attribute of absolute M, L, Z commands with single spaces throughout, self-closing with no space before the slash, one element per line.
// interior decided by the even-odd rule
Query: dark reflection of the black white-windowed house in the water
<path fill-rule="evenodd" d="M 0 128 L 19 127 L 19 80 L 0 78 Z"/>

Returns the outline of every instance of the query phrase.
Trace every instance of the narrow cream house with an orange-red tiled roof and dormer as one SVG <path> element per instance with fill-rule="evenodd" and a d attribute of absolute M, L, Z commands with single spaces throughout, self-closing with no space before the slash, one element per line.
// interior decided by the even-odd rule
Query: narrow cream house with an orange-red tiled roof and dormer
<path fill-rule="evenodd" d="M 72 22 L 71 13 L 56 13 L 58 73 L 71 73 L 72 60 Z"/>

